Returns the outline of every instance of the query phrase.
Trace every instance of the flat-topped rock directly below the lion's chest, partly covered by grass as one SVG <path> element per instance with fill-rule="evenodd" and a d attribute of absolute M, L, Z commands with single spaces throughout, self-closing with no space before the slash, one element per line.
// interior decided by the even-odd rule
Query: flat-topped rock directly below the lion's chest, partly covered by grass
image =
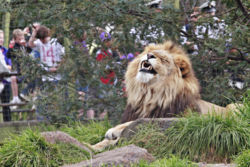
<path fill-rule="evenodd" d="M 131 138 L 137 132 L 138 125 L 148 123 L 156 123 L 162 131 L 165 131 L 177 120 L 178 118 L 140 118 L 125 128 L 121 133 L 121 137 L 127 139 Z"/>

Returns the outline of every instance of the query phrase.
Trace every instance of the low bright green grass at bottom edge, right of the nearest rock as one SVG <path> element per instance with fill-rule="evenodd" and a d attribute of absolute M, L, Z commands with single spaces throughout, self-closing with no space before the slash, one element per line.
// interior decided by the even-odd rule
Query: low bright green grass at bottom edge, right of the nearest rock
<path fill-rule="evenodd" d="M 195 165 L 186 159 L 182 160 L 176 156 L 171 156 L 168 159 L 163 158 L 156 160 L 151 164 L 141 161 L 139 164 L 132 165 L 132 167 L 198 167 L 198 165 Z"/>

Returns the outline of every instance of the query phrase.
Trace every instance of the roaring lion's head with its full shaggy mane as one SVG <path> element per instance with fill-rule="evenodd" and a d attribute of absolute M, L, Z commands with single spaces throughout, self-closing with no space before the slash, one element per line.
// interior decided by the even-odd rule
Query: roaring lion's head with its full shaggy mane
<path fill-rule="evenodd" d="M 149 45 L 128 65 L 123 122 L 172 117 L 197 108 L 199 83 L 186 53 L 174 43 Z"/>

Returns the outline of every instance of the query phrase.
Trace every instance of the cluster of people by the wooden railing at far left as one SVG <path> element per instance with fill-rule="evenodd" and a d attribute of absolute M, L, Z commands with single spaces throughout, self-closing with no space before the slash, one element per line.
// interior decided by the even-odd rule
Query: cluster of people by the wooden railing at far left
<path fill-rule="evenodd" d="M 9 48 L 5 48 L 4 44 L 4 32 L 0 30 L 0 57 L 1 65 L 8 68 L 9 71 L 15 72 L 17 75 L 5 77 L 1 79 L 1 83 L 4 85 L 1 91 L 1 102 L 12 104 L 11 109 L 15 109 L 15 104 L 23 103 L 26 100 L 28 93 L 34 91 L 35 82 L 29 83 L 29 90 L 18 90 L 18 83 L 22 82 L 22 68 L 20 61 L 23 56 L 32 55 L 34 58 L 39 59 L 39 65 L 47 73 L 55 73 L 60 65 L 62 56 L 64 55 L 64 47 L 57 42 L 55 38 L 51 38 L 50 29 L 39 23 L 32 24 L 31 27 L 27 27 L 24 30 L 14 29 L 12 33 L 12 40 L 9 44 Z M 43 76 L 43 82 L 59 80 L 60 75 L 55 77 Z M 32 85 L 32 86 L 30 86 Z M 12 97 L 12 100 L 10 98 Z M 3 120 L 10 121 L 11 113 L 10 106 L 3 107 Z"/>

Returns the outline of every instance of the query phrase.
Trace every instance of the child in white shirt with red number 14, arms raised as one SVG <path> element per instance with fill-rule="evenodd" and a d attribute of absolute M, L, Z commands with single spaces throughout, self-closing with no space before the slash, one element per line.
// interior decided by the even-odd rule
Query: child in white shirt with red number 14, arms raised
<path fill-rule="evenodd" d="M 57 39 L 51 38 L 49 28 L 45 26 L 35 27 L 29 39 L 29 46 L 40 53 L 40 62 L 42 67 L 49 73 L 55 73 L 64 55 L 64 47 L 57 42 Z M 55 77 L 43 76 L 43 81 L 58 81 L 61 76 Z"/>

